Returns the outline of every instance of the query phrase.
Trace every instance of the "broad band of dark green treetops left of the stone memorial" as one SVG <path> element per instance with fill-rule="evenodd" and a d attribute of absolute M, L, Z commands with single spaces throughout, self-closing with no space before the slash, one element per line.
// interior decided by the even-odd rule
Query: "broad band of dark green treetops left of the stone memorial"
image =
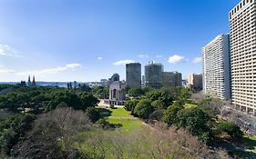
<path fill-rule="evenodd" d="M 26 110 L 40 114 L 56 108 L 60 103 L 77 110 L 86 110 L 87 107 L 97 105 L 97 98 L 87 92 L 74 92 L 56 87 L 16 87 L 13 90 L 0 94 L 0 109 L 14 113 Z"/>

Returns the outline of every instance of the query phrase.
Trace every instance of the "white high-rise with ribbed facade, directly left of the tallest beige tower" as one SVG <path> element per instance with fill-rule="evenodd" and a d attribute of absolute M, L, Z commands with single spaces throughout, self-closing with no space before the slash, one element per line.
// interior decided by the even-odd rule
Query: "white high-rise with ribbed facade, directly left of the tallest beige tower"
<path fill-rule="evenodd" d="M 230 99 L 230 35 L 218 35 L 203 47 L 202 58 L 204 93 Z"/>

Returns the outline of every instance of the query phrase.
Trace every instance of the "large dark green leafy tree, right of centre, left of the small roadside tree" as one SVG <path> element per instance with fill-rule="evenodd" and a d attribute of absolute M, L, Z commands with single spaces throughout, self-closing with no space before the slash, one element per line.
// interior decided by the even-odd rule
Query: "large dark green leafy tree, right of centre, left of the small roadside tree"
<path fill-rule="evenodd" d="M 211 117 L 198 107 L 179 111 L 179 126 L 196 135 L 205 144 L 212 141 Z"/>

